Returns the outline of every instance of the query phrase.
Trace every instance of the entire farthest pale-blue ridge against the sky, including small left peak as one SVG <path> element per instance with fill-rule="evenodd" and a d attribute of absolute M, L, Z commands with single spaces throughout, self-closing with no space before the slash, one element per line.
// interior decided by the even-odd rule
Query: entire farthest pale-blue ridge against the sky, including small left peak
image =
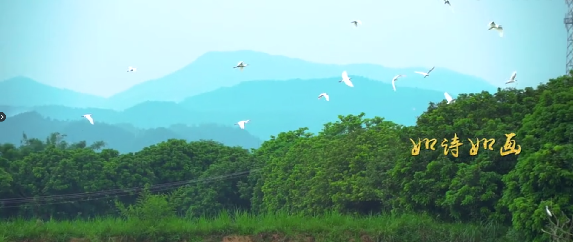
<path fill-rule="evenodd" d="M 245 61 L 249 67 L 242 72 L 233 69 L 232 67 L 238 61 Z M 180 102 L 187 97 L 214 91 L 221 87 L 230 87 L 244 81 L 338 78 L 342 71 L 348 71 L 349 75 L 353 77 L 366 77 L 383 83 L 390 83 L 392 77 L 402 74 L 406 77 L 399 80 L 401 87 L 415 87 L 441 92 L 444 92 L 445 89 L 452 93 L 472 93 L 496 89 L 478 77 L 464 75 L 441 67 L 436 67 L 426 79 L 414 73 L 414 71 L 426 71 L 429 68 L 393 69 L 374 64 L 319 64 L 299 58 L 251 50 L 207 52 L 178 71 L 159 79 L 134 85 L 108 99 L 49 87 L 24 77 L 0 81 L 0 89 L 7 90 L 6 93 L 11 93 L 8 99 L 0 101 L 0 105 L 62 105 L 124 110 L 146 101 Z M 26 93 L 26 95 L 18 93 Z M 32 97 L 26 98 L 25 96 Z"/>

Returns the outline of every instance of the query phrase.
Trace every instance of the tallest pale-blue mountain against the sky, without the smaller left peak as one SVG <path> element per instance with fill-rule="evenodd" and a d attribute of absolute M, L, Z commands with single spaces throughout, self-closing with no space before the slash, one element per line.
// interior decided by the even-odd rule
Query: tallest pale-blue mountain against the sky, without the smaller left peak
<path fill-rule="evenodd" d="M 233 68 L 239 61 L 249 67 L 240 71 Z M 186 97 L 210 92 L 221 87 L 230 87 L 243 81 L 324 79 L 340 77 L 342 71 L 351 76 L 389 83 L 397 73 L 411 73 L 413 68 L 393 69 L 375 64 L 334 65 L 304 61 L 276 54 L 253 50 L 213 51 L 199 56 L 193 63 L 160 79 L 136 85 L 125 92 L 110 98 L 113 108 L 128 108 L 144 100 L 180 102 Z M 431 77 L 434 81 L 424 81 L 412 75 L 405 81 L 405 87 L 417 87 L 442 91 L 449 87 L 453 93 L 480 92 L 496 88 L 485 80 L 447 69 L 436 70 Z M 461 82 L 463 81 L 463 83 Z"/>

